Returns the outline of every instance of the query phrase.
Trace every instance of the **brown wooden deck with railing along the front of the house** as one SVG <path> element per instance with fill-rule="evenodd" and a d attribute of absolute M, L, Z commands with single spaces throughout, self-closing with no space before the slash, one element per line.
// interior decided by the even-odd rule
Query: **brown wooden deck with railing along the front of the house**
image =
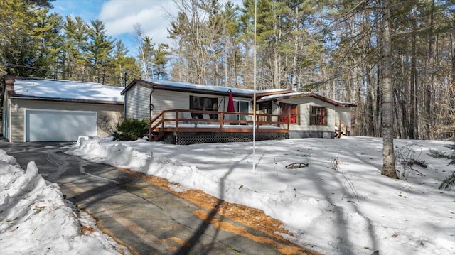
<path fill-rule="evenodd" d="M 203 118 L 205 116 L 205 118 Z M 254 123 L 253 118 L 256 118 Z M 287 119 L 287 121 L 281 121 Z M 284 134 L 289 133 L 289 116 L 254 114 L 242 112 L 213 112 L 186 109 L 166 110 L 150 121 L 149 141 L 159 141 L 166 134 L 230 133 L 231 137 L 245 137 L 245 133 Z M 255 124 L 255 126 L 253 126 Z M 240 135 L 242 134 L 242 135 Z M 203 139 L 201 140 L 203 141 Z"/>

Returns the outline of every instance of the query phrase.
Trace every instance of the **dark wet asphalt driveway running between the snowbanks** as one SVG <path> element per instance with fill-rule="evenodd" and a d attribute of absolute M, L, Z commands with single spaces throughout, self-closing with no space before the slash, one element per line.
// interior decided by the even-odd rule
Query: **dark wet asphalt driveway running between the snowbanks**
<path fill-rule="evenodd" d="M 0 149 L 22 168 L 35 161 L 43 178 L 58 183 L 67 200 L 95 217 L 102 229 L 133 254 L 282 254 L 265 234 L 217 215 L 112 166 L 64 153 L 71 143 L 6 143 Z M 196 212 L 246 229 L 238 235 L 200 219 Z"/>

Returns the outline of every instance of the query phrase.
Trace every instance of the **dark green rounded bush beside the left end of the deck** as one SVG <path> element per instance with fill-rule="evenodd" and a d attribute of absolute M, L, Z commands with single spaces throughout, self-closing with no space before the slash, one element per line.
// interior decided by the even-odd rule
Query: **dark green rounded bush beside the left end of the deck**
<path fill-rule="evenodd" d="M 146 119 L 125 119 L 117 124 L 112 134 L 115 141 L 135 141 L 149 133 L 149 121 Z"/>

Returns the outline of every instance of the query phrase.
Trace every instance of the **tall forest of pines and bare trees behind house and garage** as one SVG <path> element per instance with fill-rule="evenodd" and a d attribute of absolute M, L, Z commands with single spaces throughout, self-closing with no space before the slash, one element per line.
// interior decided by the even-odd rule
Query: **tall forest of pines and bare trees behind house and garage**
<path fill-rule="evenodd" d="M 173 43 L 132 24 L 127 49 L 102 21 L 62 17 L 52 1 L 2 0 L 0 74 L 252 88 L 255 1 L 173 2 Z M 393 136 L 440 139 L 455 130 L 455 1 L 257 0 L 256 75 L 258 89 L 353 102 L 353 135 L 382 136 L 390 113 Z"/>

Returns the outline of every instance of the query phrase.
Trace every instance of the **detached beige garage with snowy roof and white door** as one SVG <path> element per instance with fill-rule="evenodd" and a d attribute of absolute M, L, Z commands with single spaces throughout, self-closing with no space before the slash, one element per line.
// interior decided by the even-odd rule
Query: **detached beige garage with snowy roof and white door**
<path fill-rule="evenodd" d="M 10 142 L 106 136 L 123 119 L 123 87 L 7 76 L 2 131 Z"/>

